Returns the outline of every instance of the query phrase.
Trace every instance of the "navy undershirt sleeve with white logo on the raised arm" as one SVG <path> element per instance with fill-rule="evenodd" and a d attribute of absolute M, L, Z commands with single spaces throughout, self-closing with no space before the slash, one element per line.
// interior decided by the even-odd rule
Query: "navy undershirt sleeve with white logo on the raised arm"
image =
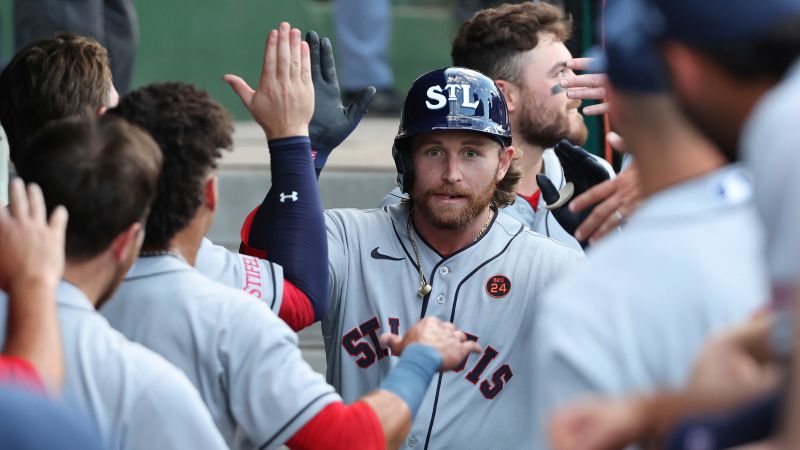
<path fill-rule="evenodd" d="M 311 142 L 306 136 L 270 140 L 269 152 L 272 186 L 253 217 L 248 245 L 283 266 L 320 320 L 329 303 L 328 242 Z"/>

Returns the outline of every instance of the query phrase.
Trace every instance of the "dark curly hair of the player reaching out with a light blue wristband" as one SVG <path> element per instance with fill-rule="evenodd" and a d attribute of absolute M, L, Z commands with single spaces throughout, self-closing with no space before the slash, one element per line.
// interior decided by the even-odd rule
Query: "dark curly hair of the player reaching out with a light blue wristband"
<path fill-rule="evenodd" d="M 187 83 L 151 84 L 120 99 L 108 114 L 147 130 L 164 155 L 158 196 L 144 246 L 166 249 L 203 202 L 203 185 L 222 149 L 233 146 L 233 122 L 207 92 Z"/>

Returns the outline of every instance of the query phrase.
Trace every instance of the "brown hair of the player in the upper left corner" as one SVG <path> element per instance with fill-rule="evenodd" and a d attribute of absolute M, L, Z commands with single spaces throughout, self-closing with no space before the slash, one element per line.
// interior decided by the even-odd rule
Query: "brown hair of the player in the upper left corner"
<path fill-rule="evenodd" d="M 47 122 L 108 106 L 111 87 L 108 53 L 92 38 L 64 33 L 18 51 L 0 75 L 11 160 Z"/>

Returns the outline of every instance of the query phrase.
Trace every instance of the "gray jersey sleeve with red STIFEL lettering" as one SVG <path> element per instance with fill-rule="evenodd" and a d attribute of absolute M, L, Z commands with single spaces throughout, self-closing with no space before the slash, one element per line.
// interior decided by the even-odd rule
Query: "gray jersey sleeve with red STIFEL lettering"
<path fill-rule="evenodd" d="M 283 296 L 283 268 L 267 260 L 232 252 L 203 238 L 195 268 L 225 286 L 260 298 L 277 314 Z"/>

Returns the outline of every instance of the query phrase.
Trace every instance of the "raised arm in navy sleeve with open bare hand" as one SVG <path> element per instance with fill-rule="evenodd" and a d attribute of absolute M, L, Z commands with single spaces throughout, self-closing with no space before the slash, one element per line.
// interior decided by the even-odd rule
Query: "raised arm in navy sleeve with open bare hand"
<path fill-rule="evenodd" d="M 283 266 L 286 280 L 311 304 L 309 320 L 319 320 L 328 309 L 328 250 L 308 138 L 314 111 L 309 46 L 299 30 L 281 23 L 267 39 L 257 88 L 235 75 L 225 81 L 264 129 L 270 149 L 272 186 L 260 208 L 269 214 L 254 217 L 248 243 Z"/>

